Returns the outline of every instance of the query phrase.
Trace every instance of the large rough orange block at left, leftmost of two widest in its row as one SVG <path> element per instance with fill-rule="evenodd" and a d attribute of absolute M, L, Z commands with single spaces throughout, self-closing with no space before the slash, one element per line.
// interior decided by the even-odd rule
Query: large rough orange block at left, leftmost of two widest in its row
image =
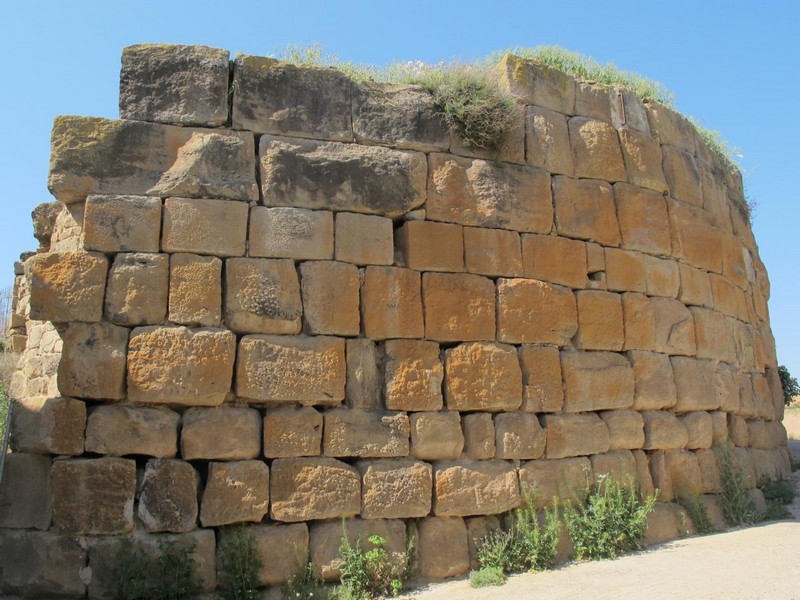
<path fill-rule="evenodd" d="M 236 336 L 227 330 L 137 327 L 128 345 L 132 402 L 217 406 L 231 389 Z"/>

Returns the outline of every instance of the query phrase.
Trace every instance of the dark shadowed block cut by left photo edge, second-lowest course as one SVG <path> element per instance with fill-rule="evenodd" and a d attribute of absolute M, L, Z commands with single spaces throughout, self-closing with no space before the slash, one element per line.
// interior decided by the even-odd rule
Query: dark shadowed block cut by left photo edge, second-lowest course
<path fill-rule="evenodd" d="M 0 486 L 0 527 L 48 529 L 53 514 L 49 456 L 12 452 Z M 2 548 L 2 542 L 0 542 Z M 0 587 L 2 589 L 2 587 Z"/>

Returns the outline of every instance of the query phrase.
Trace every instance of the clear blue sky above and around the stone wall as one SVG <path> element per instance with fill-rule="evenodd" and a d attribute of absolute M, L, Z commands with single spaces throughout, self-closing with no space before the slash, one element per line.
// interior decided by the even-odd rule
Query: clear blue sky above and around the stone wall
<path fill-rule="evenodd" d="M 471 61 L 557 44 L 664 83 L 679 110 L 741 148 L 754 230 L 772 281 L 778 360 L 800 375 L 795 316 L 800 203 L 800 2 L 672 0 L 142 0 L 2 3 L 0 286 L 36 247 L 58 114 L 116 118 L 120 54 L 144 42 L 272 54 L 319 43 L 344 60 Z"/>

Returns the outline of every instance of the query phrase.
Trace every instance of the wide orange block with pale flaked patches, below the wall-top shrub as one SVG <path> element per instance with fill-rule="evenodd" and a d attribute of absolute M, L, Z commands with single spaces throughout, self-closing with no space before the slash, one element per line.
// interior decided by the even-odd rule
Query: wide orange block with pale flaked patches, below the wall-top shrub
<path fill-rule="evenodd" d="M 459 225 L 549 233 L 550 176 L 534 167 L 429 155 L 428 218 Z"/>

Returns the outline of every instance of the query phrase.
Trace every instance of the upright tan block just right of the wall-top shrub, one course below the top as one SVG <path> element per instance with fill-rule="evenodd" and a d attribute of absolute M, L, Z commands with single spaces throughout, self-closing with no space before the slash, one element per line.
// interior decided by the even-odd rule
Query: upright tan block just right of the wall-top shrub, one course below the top
<path fill-rule="evenodd" d="M 525 120 L 526 158 L 529 165 L 545 171 L 573 173 L 572 147 L 566 117 L 540 106 L 528 106 Z"/>

